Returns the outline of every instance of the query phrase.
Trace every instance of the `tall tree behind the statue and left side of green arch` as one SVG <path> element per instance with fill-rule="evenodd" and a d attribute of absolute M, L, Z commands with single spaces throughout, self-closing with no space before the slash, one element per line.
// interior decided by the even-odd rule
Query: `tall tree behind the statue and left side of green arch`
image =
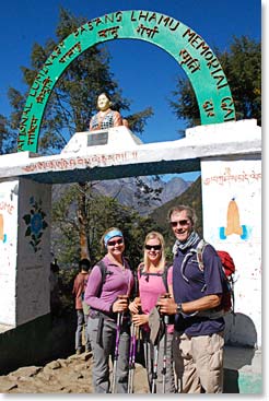
<path fill-rule="evenodd" d="M 31 55 L 31 67 L 22 67 L 24 83 L 30 90 L 36 74 L 58 43 L 74 32 L 87 20 L 77 17 L 60 8 L 56 38 L 48 39 L 45 46 L 34 44 Z M 78 57 L 62 73 L 50 94 L 42 121 L 38 152 L 40 154 L 58 153 L 74 132 L 85 131 L 91 115 L 96 110 L 96 98 L 101 92 L 107 92 L 114 101 L 115 108 L 126 113 L 130 103 L 122 97 L 121 90 L 109 68 L 109 54 L 105 46 L 93 46 Z M 27 93 L 22 94 L 15 89 L 9 90 L 12 106 L 10 127 L 19 128 Z M 142 132 L 147 119 L 153 114 L 149 107 L 131 116 L 125 116 L 134 132 Z M 90 185 L 91 187 L 91 185 Z M 77 186 L 78 224 L 80 227 L 81 258 L 90 259 L 89 239 L 86 238 L 86 200 L 89 185 Z"/>

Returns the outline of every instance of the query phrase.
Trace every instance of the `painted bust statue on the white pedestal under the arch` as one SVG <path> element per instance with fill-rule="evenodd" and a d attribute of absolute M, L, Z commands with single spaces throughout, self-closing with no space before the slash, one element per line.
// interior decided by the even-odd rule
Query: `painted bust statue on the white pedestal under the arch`
<path fill-rule="evenodd" d="M 98 113 L 95 114 L 90 121 L 90 131 L 119 127 L 128 123 L 118 111 L 112 110 L 112 101 L 107 93 L 101 93 L 97 98 Z"/>

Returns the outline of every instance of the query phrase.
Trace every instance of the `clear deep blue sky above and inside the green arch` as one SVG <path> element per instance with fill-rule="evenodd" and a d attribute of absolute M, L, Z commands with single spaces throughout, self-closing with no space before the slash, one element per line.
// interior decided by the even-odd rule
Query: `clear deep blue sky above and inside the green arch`
<path fill-rule="evenodd" d="M 198 33 L 211 48 L 229 48 L 233 36 L 260 40 L 259 0 L 9 0 L 1 4 L 2 57 L 0 63 L 0 114 L 10 113 L 9 86 L 23 89 L 21 66 L 30 66 L 35 42 L 55 38 L 59 7 L 92 20 L 118 10 L 148 10 L 173 16 Z M 130 113 L 148 106 L 154 109 L 141 139 L 143 142 L 178 139 L 183 127 L 168 105 L 176 76 L 183 70 L 164 50 L 142 40 L 113 40 L 105 44 L 112 55 L 112 71 Z"/>

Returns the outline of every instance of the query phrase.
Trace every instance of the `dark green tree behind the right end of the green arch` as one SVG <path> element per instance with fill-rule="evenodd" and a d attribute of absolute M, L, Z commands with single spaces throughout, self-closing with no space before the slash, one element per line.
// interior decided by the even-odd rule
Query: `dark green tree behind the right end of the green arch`
<path fill-rule="evenodd" d="M 261 125 L 261 46 L 246 36 L 234 37 L 229 50 L 214 49 L 227 78 L 236 119 L 255 118 Z M 187 128 L 200 125 L 200 113 L 189 80 L 179 76 L 171 107 Z"/>

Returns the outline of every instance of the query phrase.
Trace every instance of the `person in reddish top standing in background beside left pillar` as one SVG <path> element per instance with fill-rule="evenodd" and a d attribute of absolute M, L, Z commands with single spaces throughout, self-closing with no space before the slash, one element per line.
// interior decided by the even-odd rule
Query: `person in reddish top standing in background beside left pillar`
<path fill-rule="evenodd" d="M 77 274 L 73 283 L 72 294 L 74 295 L 75 310 L 77 310 L 77 330 L 74 337 L 75 353 L 79 355 L 83 352 L 83 341 L 82 335 L 84 331 L 85 337 L 85 351 L 91 351 L 90 339 L 87 334 L 87 318 L 89 311 L 86 312 L 83 307 L 84 303 L 84 292 L 90 276 L 91 263 L 87 259 L 82 259 L 79 261 L 80 272 Z"/>

